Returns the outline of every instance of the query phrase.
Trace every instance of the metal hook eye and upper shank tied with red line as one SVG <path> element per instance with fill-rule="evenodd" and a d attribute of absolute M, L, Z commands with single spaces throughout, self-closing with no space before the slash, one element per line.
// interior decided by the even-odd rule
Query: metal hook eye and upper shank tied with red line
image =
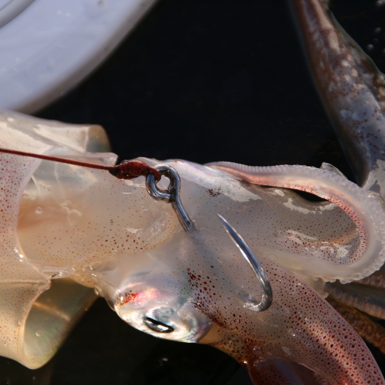
<path fill-rule="evenodd" d="M 160 172 L 161 175 L 167 177 L 170 180 L 170 183 L 167 189 L 163 190 L 157 186 L 157 181 L 155 175 L 149 173 L 146 176 L 146 189 L 148 194 L 155 199 L 156 201 L 164 201 L 170 203 L 175 214 L 178 217 L 182 228 L 185 231 L 194 230 L 193 221 L 188 216 L 182 203 L 180 202 L 180 177 L 176 170 L 167 164 L 158 164 L 154 166 L 156 170 Z"/>

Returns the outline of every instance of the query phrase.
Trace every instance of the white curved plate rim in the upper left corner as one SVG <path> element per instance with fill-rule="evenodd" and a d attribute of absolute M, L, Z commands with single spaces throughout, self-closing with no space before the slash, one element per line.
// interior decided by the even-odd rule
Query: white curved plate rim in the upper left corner
<path fill-rule="evenodd" d="M 32 113 L 108 56 L 156 0 L 0 0 L 0 108 Z"/>

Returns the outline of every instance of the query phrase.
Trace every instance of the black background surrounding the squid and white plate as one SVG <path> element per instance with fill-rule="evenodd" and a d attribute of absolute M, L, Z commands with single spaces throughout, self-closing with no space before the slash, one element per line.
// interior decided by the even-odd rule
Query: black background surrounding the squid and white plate
<path fill-rule="evenodd" d="M 332 8 L 385 70 L 385 35 L 375 32 L 385 31 L 385 6 L 375 3 L 335 0 Z M 353 177 L 283 0 L 160 0 L 95 73 L 37 115 L 103 125 L 121 160 L 326 161 Z M 137 332 L 103 300 L 42 369 L 0 365 L 8 385 L 251 383 L 227 355 Z"/>

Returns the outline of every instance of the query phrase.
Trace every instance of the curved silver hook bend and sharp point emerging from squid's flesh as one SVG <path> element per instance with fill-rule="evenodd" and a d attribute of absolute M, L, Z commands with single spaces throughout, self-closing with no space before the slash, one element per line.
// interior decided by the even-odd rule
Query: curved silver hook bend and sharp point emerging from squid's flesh
<path fill-rule="evenodd" d="M 227 233 L 230 238 L 237 245 L 238 249 L 241 251 L 242 255 L 246 258 L 246 261 L 249 263 L 255 276 L 258 278 L 263 290 L 262 299 L 258 302 L 255 298 L 249 298 L 249 302 L 244 305 L 244 307 L 253 310 L 253 311 L 264 311 L 267 310 L 272 301 L 273 301 L 273 291 L 271 289 L 271 285 L 269 282 L 269 278 L 267 278 L 266 273 L 258 262 L 256 256 L 250 250 L 249 246 L 247 246 L 244 239 L 240 236 L 240 234 L 223 218 L 221 215 L 217 214 L 219 219 L 222 221 L 223 226 L 225 227 Z"/>

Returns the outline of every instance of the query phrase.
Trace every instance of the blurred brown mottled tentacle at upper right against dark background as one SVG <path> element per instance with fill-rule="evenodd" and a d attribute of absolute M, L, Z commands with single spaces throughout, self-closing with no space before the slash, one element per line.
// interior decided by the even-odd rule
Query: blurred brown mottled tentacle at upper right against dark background
<path fill-rule="evenodd" d="M 383 198 L 384 78 L 330 17 L 326 3 L 291 2 L 318 91 L 359 182 Z"/>

